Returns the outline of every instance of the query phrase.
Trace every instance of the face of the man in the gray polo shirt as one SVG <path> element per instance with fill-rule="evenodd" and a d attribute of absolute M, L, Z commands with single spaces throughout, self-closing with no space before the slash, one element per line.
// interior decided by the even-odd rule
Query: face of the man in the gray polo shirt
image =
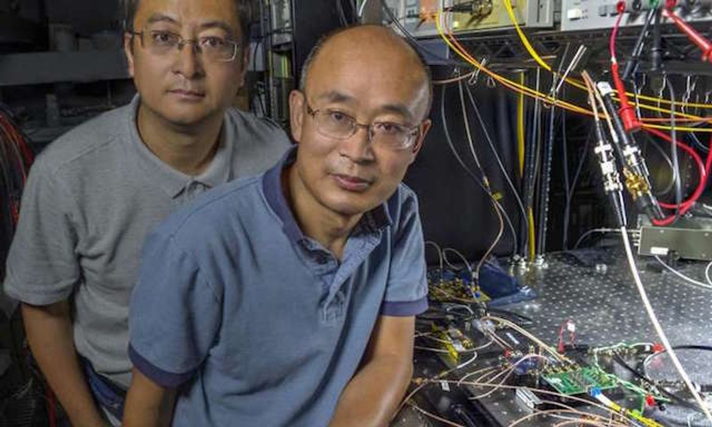
<path fill-rule="evenodd" d="M 195 41 L 240 41 L 234 0 L 141 0 L 134 31 L 125 36 L 129 72 L 142 104 L 173 125 L 195 125 L 222 115 L 244 83 L 249 49 L 239 46 L 229 62 L 207 60 L 194 43 L 157 53 L 152 39 L 169 34 Z"/>

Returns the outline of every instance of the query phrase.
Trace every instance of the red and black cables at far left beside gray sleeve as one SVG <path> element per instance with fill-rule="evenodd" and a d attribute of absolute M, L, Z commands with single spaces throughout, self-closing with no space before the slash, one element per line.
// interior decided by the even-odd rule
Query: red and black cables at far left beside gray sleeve
<path fill-rule="evenodd" d="M 28 139 L 0 106 L 0 277 L 20 214 L 20 200 L 33 161 Z"/>

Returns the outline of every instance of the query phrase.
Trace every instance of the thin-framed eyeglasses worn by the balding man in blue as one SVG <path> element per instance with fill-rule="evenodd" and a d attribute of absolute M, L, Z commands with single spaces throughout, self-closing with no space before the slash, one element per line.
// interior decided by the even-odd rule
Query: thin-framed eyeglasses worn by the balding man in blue
<path fill-rule="evenodd" d="M 367 130 L 371 144 L 387 149 L 400 150 L 412 147 L 420 130 L 419 125 L 407 126 L 392 122 L 362 125 L 354 117 L 339 110 L 313 110 L 309 105 L 307 105 L 307 113 L 313 117 L 317 132 L 325 137 L 347 139 L 363 127 Z"/>

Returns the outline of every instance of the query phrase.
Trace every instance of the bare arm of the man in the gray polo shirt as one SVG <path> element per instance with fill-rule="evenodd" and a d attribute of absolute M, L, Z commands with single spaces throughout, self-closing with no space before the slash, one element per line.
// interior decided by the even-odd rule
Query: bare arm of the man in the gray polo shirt
<path fill-rule="evenodd" d="M 23 304 L 22 318 L 32 354 L 72 426 L 105 425 L 74 348 L 68 302 L 46 306 Z"/>

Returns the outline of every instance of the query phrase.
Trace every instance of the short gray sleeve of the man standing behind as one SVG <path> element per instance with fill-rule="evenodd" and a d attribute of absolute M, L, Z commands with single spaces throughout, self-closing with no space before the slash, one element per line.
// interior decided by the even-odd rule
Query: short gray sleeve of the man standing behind
<path fill-rule="evenodd" d="M 26 182 L 7 258 L 4 290 L 31 305 L 66 300 L 80 279 L 75 200 L 58 176 L 36 162 Z"/>

